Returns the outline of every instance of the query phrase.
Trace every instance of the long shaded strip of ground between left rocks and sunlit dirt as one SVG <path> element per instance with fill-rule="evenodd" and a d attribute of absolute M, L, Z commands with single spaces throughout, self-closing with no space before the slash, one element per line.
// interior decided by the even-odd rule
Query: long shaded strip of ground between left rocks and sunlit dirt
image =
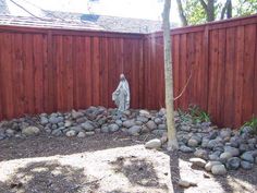
<path fill-rule="evenodd" d="M 144 143 L 142 140 L 144 137 L 146 137 L 146 135 L 128 136 L 122 132 L 112 134 L 99 133 L 85 138 L 66 136 L 54 137 L 44 134 L 27 138 L 12 137 L 0 141 L 0 161 L 20 158 L 72 155 L 84 152 L 125 147 Z"/>

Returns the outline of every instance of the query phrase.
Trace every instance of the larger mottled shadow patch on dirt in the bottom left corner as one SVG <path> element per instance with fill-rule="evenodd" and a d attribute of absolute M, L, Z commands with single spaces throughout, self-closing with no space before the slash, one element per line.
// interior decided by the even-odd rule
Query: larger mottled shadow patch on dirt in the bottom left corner
<path fill-rule="evenodd" d="M 84 169 L 61 165 L 58 160 L 29 162 L 17 168 L 9 180 L 0 181 L 0 192 L 97 192 L 97 180 L 89 181 L 84 173 Z"/>

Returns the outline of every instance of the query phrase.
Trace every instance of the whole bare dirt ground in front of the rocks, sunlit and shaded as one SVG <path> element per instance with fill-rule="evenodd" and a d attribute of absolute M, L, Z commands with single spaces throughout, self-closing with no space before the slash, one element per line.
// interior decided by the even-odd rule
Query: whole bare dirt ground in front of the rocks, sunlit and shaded
<path fill-rule="evenodd" d="M 0 142 L 0 193 L 222 193 L 256 192 L 257 167 L 204 177 L 192 155 L 145 149 L 149 135 L 40 135 Z M 197 183 L 183 189 L 179 179 Z"/>

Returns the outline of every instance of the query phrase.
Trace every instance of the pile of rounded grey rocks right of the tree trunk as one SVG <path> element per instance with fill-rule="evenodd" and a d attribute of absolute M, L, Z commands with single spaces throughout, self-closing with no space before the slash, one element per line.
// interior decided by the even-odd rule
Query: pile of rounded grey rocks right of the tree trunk
<path fill-rule="evenodd" d="M 203 167 L 213 174 L 227 170 L 252 169 L 257 164 L 257 136 L 252 128 L 241 131 L 217 129 L 210 123 L 193 123 L 192 119 L 176 119 L 180 150 L 193 153 L 193 166 Z"/>

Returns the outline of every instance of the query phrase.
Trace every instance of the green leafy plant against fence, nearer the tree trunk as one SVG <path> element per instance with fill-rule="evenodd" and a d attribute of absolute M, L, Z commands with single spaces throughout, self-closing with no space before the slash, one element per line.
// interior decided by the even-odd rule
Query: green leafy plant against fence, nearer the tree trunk
<path fill-rule="evenodd" d="M 196 123 L 200 122 L 210 122 L 210 116 L 208 112 L 204 111 L 200 107 L 196 105 L 191 105 L 188 112 L 192 116 L 192 119 Z"/>

